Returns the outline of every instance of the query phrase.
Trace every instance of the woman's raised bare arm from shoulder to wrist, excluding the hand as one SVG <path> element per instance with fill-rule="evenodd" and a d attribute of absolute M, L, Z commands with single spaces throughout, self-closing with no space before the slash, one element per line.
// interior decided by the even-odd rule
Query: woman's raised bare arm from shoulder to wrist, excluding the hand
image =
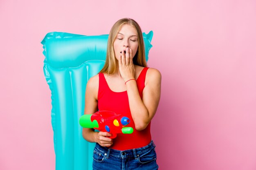
<path fill-rule="evenodd" d="M 136 130 L 143 130 L 157 111 L 161 94 L 161 73 L 157 69 L 148 68 L 142 99 L 139 96 L 135 81 L 127 82 L 126 86 L 135 128 Z"/>

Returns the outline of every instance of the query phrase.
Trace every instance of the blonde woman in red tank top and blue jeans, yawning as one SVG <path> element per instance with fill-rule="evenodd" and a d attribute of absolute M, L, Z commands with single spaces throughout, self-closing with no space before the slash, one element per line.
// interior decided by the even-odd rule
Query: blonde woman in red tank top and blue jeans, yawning
<path fill-rule="evenodd" d="M 106 63 L 90 78 L 85 93 L 85 114 L 109 110 L 130 119 L 132 134 L 117 134 L 83 128 L 83 137 L 96 142 L 94 170 L 157 170 L 150 121 L 160 99 L 161 74 L 148 68 L 142 32 L 132 19 L 118 20 L 110 30 Z"/>

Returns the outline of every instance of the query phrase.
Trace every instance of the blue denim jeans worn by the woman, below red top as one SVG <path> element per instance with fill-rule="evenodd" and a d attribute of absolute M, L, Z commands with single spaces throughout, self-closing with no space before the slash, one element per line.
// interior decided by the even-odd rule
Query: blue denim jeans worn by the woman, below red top
<path fill-rule="evenodd" d="M 96 144 L 93 151 L 93 170 L 157 170 L 157 155 L 153 141 L 147 146 L 115 150 Z"/>

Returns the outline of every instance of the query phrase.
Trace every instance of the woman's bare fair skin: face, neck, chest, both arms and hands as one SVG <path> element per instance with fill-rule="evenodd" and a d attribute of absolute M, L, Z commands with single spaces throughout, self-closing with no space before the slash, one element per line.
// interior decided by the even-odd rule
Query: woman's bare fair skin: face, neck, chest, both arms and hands
<path fill-rule="evenodd" d="M 117 70 L 112 75 L 105 75 L 108 86 L 112 91 L 127 91 L 132 119 L 136 130 L 144 130 L 154 117 L 160 99 L 161 74 L 157 69 L 148 68 L 145 79 L 143 98 L 135 80 L 144 67 L 134 65 L 132 58 L 138 49 L 138 37 L 136 29 L 124 24 L 114 41 L 115 57 L 118 60 Z M 126 51 L 126 53 L 124 52 Z M 120 53 L 121 52 L 121 53 Z M 99 75 L 90 78 L 85 92 L 85 114 L 93 114 L 98 111 Z M 94 132 L 93 129 L 83 128 L 83 137 L 89 142 L 97 142 L 103 147 L 110 147 L 113 140 L 108 132 Z"/>

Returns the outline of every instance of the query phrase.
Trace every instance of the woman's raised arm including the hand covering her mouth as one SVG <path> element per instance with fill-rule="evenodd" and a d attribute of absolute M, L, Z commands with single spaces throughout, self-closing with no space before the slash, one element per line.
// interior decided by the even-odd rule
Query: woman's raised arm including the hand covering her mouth
<path fill-rule="evenodd" d="M 135 79 L 132 56 L 131 49 L 126 49 L 126 57 L 124 56 L 124 51 L 122 51 L 119 56 L 119 71 L 126 82 L 129 106 L 135 129 L 143 130 L 148 126 L 157 111 L 161 94 L 161 73 L 157 69 L 148 68 L 141 99 L 136 81 L 128 81 L 129 79 Z"/>

